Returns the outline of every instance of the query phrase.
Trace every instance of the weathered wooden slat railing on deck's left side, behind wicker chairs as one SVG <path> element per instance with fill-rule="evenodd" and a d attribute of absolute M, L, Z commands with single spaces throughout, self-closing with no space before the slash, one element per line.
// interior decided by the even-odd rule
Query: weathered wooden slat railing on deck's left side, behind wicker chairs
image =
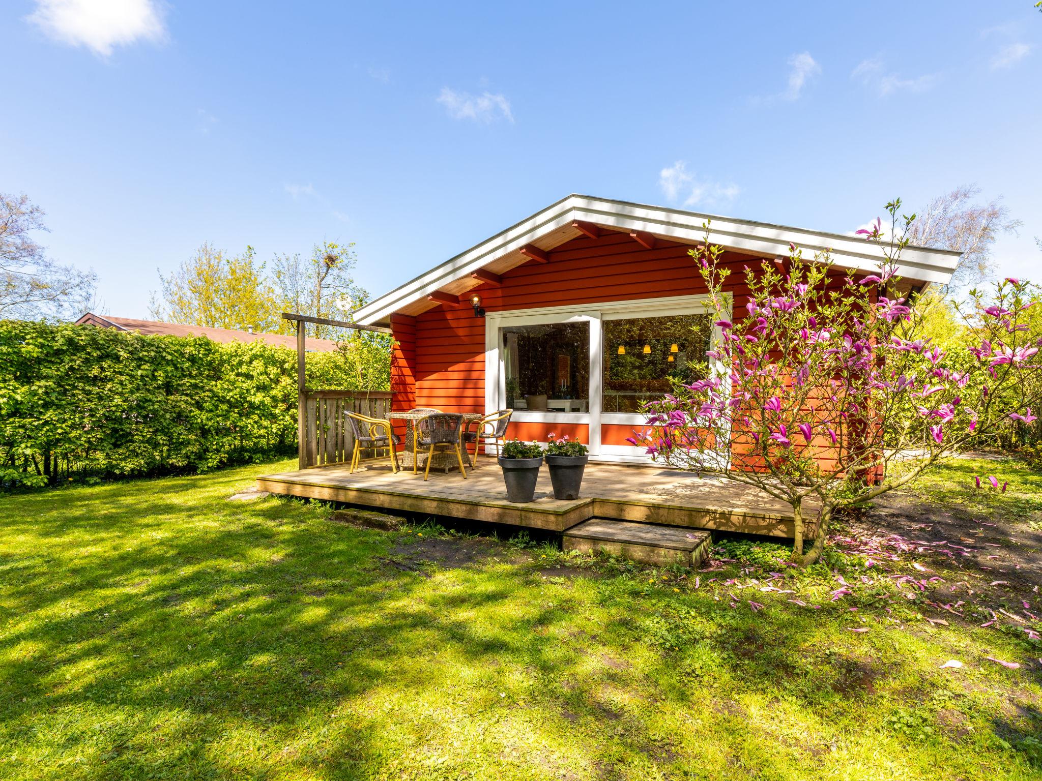
<path fill-rule="evenodd" d="M 354 435 L 345 417 L 361 412 L 370 418 L 387 418 L 391 411 L 390 391 L 307 391 L 297 451 L 300 469 L 351 460 Z M 373 453 L 366 452 L 367 456 Z"/>

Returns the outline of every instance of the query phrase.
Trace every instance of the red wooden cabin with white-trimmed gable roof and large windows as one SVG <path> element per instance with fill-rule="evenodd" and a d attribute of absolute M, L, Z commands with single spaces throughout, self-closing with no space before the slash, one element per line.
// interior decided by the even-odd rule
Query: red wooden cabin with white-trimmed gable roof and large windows
<path fill-rule="evenodd" d="M 824 249 L 842 268 L 874 270 L 862 238 L 662 206 L 571 195 L 377 298 L 356 313 L 397 345 L 393 408 L 486 412 L 513 407 L 507 436 L 578 436 L 592 460 L 641 462 L 626 443 L 638 404 L 702 360 L 718 337 L 688 254 L 710 241 L 741 272 L 763 258 Z M 909 248 L 899 273 L 945 284 L 959 253 Z M 475 306 L 472 298 L 478 297 Z"/>

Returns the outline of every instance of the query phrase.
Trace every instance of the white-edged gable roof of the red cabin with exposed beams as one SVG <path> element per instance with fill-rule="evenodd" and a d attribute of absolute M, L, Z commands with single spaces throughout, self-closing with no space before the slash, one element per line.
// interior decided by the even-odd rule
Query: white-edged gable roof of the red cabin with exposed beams
<path fill-rule="evenodd" d="M 464 296 L 481 284 L 479 278 L 471 276 L 474 272 L 480 276 L 482 270 L 493 274 L 510 271 L 530 259 L 530 255 L 525 255 L 523 250 L 535 248 L 537 253 L 552 250 L 582 235 L 582 224 L 616 231 L 650 233 L 695 245 L 705 241 L 702 224 L 706 221 L 711 221 L 712 243 L 762 257 L 788 255 L 789 244 L 793 243 L 802 248 L 805 256 L 828 249 L 834 262 L 848 269 L 875 270 L 882 259 L 874 244 L 841 233 L 570 195 L 371 301 L 355 312 L 355 322 L 363 325 L 386 324 L 395 312 L 420 313 L 437 305 L 427 301 L 427 296 L 431 294 Z M 901 252 L 898 273 L 907 279 L 947 284 L 960 254 L 952 250 L 910 246 Z"/>

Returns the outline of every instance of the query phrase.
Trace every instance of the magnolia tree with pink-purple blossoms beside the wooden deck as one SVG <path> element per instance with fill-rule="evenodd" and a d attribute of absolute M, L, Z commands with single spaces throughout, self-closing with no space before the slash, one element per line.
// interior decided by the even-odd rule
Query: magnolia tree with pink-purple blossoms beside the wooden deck
<path fill-rule="evenodd" d="M 724 292 L 722 249 L 692 250 L 709 286 L 722 338 L 704 377 L 677 383 L 644 405 L 647 428 L 630 438 L 655 460 L 755 486 L 785 501 L 795 519 L 794 558 L 821 555 L 837 510 L 866 502 L 967 450 L 974 437 L 1039 409 L 1042 339 L 1028 332 L 1034 288 L 1007 279 L 960 309 L 972 341 L 945 352 L 921 336 L 924 302 L 901 295 L 901 250 L 915 219 L 887 205 L 859 231 L 880 250 L 878 271 L 813 261 L 790 245 L 788 259 L 745 269 L 748 301 Z M 900 464 L 897 462 L 900 461 Z M 804 553 L 809 523 L 813 546 Z"/>

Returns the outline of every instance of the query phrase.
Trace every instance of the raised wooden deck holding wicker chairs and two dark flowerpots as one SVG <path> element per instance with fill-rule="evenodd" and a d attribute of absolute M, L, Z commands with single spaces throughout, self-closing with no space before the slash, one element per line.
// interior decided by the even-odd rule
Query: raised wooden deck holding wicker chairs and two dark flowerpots
<path fill-rule="evenodd" d="M 313 467 L 265 475 L 257 487 L 272 494 L 324 499 L 367 507 L 565 531 L 592 518 L 617 519 L 779 537 L 793 535 L 788 505 L 735 483 L 652 467 L 587 465 L 582 496 L 557 501 L 546 467 L 540 471 L 536 501 L 506 501 L 503 476 L 494 459 L 467 471 L 414 476 L 392 474 L 384 460 L 348 474 L 348 464 Z M 804 505 L 814 518 L 816 507 Z M 813 523 L 807 533 L 813 532 Z"/>

